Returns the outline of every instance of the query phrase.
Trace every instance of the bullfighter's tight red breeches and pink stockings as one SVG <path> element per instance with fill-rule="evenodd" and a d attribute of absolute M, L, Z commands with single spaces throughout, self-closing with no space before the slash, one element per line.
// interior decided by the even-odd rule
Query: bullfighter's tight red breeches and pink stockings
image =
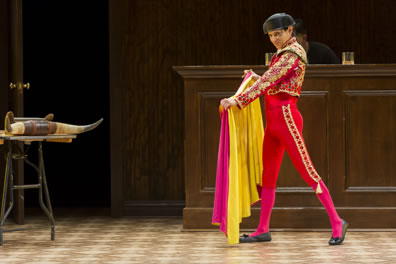
<path fill-rule="evenodd" d="M 285 93 L 265 96 L 265 117 L 267 125 L 263 143 L 263 188 L 261 195 L 261 216 L 256 236 L 269 231 L 269 220 L 275 203 L 275 187 L 279 168 L 285 150 L 304 181 L 314 190 L 318 184 L 319 200 L 329 214 L 333 237 L 340 237 L 342 221 L 338 216 L 330 193 L 312 165 L 302 136 L 303 119 L 296 106 L 297 98 Z"/>

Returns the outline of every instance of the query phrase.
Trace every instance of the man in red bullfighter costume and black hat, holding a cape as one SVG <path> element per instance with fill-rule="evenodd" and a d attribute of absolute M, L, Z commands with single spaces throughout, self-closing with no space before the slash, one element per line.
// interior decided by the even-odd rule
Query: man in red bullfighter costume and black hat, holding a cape
<path fill-rule="evenodd" d="M 268 70 L 255 74 L 256 82 L 236 98 L 221 101 L 225 109 L 232 105 L 244 108 L 265 95 L 266 128 L 263 143 L 263 188 L 261 215 L 257 230 L 240 237 L 241 243 L 271 241 L 269 222 L 275 202 L 275 188 L 284 151 L 287 150 L 302 178 L 311 186 L 330 218 L 333 234 L 329 245 L 344 241 L 348 223 L 341 219 L 330 193 L 312 165 L 302 136 L 303 119 L 296 103 L 301 93 L 307 56 L 293 33 L 294 19 L 285 13 L 270 16 L 264 23 L 264 33 L 277 48 Z"/>

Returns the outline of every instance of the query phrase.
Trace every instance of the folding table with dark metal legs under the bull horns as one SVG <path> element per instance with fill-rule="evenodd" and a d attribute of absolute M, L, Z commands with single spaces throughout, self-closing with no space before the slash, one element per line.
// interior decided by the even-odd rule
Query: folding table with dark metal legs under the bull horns
<path fill-rule="evenodd" d="M 38 189 L 39 190 L 39 204 L 47 215 L 51 223 L 51 240 L 55 240 L 55 220 L 52 212 L 51 201 L 48 192 L 47 179 L 45 175 L 44 159 L 43 159 L 43 146 L 42 142 L 63 142 L 70 143 L 76 135 L 45 135 L 45 136 L 10 136 L 5 135 L 4 131 L 0 130 L 0 144 L 8 145 L 6 173 L 4 179 L 4 188 L 1 202 L 1 222 L 0 222 L 0 245 L 3 244 L 3 232 L 20 231 L 27 228 L 9 228 L 4 229 L 3 225 L 8 215 L 14 206 L 14 190 L 21 189 Z M 38 164 L 27 159 L 24 151 L 18 148 L 18 142 L 25 145 L 30 145 L 32 142 L 37 142 L 38 147 Z M 19 151 L 19 152 L 18 152 Z M 30 185 L 14 185 L 12 161 L 13 159 L 23 159 L 25 163 L 32 166 L 37 171 L 38 183 Z M 43 200 L 43 190 L 45 193 L 45 203 Z M 9 203 L 7 208 L 7 192 L 9 192 Z"/>

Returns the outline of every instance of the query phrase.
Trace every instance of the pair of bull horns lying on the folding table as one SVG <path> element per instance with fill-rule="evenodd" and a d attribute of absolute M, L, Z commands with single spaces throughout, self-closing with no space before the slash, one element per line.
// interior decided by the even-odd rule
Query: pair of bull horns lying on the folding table
<path fill-rule="evenodd" d="M 5 133 L 8 135 L 27 136 L 48 134 L 81 134 L 96 128 L 103 121 L 103 118 L 101 118 L 97 122 L 90 125 L 76 126 L 59 122 L 52 122 L 53 118 L 53 114 L 48 114 L 44 118 L 31 118 L 23 119 L 23 121 L 18 121 L 15 119 L 14 113 L 10 111 L 6 114 L 5 117 Z"/>

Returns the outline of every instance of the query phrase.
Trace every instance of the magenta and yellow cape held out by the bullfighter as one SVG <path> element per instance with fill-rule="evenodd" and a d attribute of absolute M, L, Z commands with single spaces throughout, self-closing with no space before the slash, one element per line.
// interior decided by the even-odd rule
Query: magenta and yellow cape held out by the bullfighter
<path fill-rule="evenodd" d="M 237 93 L 254 83 L 249 72 Z M 220 107 L 221 130 L 216 171 L 216 191 L 212 223 L 228 238 L 239 243 L 239 224 L 251 214 L 251 204 L 259 201 L 262 181 L 264 129 L 259 100 L 244 109 L 227 111 Z"/>

